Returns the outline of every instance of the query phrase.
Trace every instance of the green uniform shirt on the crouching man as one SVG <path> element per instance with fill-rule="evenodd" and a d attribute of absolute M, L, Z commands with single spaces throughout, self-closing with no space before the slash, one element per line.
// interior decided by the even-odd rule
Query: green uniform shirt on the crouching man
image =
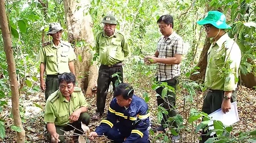
<path fill-rule="evenodd" d="M 69 117 L 74 111 L 80 107 L 86 107 L 88 103 L 85 101 L 81 88 L 75 88 L 71 94 L 71 99 L 62 96 L 60 90 L 53 92 L 46 101 L 46 111 L 44 112 L 44 122 L 54 123 L 58 126 L 64 126 L 69 123 Z"/>

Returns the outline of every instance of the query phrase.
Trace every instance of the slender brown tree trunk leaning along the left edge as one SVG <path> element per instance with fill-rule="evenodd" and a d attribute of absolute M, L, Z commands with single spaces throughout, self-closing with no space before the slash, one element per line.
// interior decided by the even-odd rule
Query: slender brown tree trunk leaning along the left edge
<path fill-rule="evenodd" d="M 25 131 L 22 127 L 22 122 L 19 114 L 19 90 L 18 90 L 18 80 L 16 75 L 15 60 L 13 57 L 13 49 L 11 47 L 11 35 L 8 27 L 8 21 L 5 11 L 5 1 L 0 1 L 0 25 L 3 36 L 3 45 L 6 54 L 7 64 L 8 64 L 8 74 L 10 78 L 11 87 L 11 110 L 13 112 L 14 125 L 20 127 L 21 132 L 17 132 L 17 142 L 25 142 Z"/>

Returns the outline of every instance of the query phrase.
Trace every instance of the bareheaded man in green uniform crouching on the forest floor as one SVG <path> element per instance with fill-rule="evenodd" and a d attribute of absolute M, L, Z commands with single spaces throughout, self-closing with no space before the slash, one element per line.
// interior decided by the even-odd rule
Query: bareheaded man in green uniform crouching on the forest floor
<path fill-rule="evenodd" d="M 53 92 L 46 101 L 44 122 L 47 123 L 51 142 L 65 142 L 64 131 L 71 131 L 73 127 L 76 128 L 75 133 L 82 135 L 81 122 L 85 125 L 90 122 L 90 116 L 86 113 L 88 103 L 81 88 L 75 88 L 75 83 L 76 77 L 73 73 L 61 74 L 59 90 Z M 73 136 L 73 140 L 77 142 L 78 137 Z"/>

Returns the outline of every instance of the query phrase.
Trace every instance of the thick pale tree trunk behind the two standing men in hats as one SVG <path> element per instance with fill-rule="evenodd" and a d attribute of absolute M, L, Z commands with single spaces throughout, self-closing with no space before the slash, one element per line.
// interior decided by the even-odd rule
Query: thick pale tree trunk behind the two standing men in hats
<path fill-rule="evenodd" d="M 64 1 L 69 42 L 76 45 L 84 41 L 81 47 L 75 47 L 75 53 L 80 57 L 75 63 L 77 81 L 86 90 L 86 94 L 90 95 L 97 87 L 98 70 L 96 64 L 91 64 L 93 57 L 90 47 L 93 46 L 94 37 L 89 8 L 89 0 Z"/>

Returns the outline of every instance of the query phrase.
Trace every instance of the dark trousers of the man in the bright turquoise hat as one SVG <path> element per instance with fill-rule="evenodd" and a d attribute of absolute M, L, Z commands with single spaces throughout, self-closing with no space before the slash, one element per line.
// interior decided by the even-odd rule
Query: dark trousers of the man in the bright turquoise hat
<path fill-rule="evenodd" d="M 222 100 L 224 99 L 224 91 L 223 90 L 211 90 L 209 89 L 207 94 L 204 96 L 204 103 L 202 111 L 207 113 L 208 115 L 212 112 L 221 108 Z M 231 102 L 237 101 L 237 91 L 232 92 L 232 96 L 230 99 Z M 205 142 L 210 138 L 210 136 L 206 136 L 207 131 L 205 132 L 203 129 L 203 133 L 201 134 L 202 140 L 200 142 Z"/>

